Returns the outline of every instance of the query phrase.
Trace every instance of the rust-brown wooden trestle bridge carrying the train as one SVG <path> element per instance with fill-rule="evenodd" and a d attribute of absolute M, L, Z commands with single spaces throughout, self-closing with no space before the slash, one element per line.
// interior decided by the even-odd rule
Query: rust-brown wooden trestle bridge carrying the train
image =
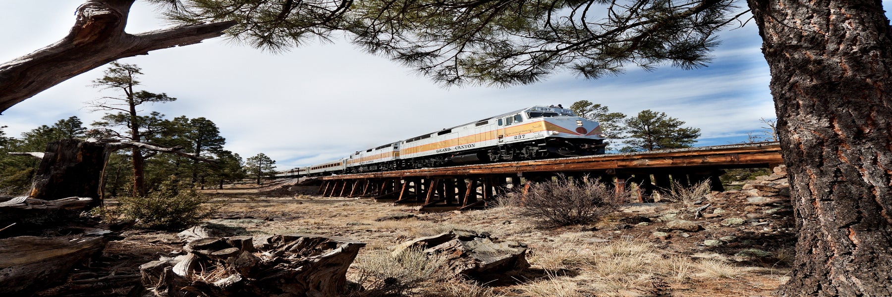
<path fill-rule="evenodd" d="M 639 191 L 640 202 L 673 181 L 691 186 L 708 180 L 723 191 L 723 169 L 772 168 L 783 163 L 780 144 L 731 144 L 686 149 L 613 153 L 593 156 L 515 161 L 456 167 L 409 169 L 320 177 L 319 194 L 373 197 L 417 203 L 422 209 L 467 210 L 487 206 L 510 188 L 529 186 L 558 175 L 598 177 L 610 186 Z"/>

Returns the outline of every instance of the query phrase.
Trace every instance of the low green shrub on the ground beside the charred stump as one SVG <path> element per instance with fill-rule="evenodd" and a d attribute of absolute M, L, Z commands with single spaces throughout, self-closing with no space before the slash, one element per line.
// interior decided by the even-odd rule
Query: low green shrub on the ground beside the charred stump
<path fill-rule="evenodd" d="M 158 190 L 145 196 L 119 197 L 118 201 L 120 214 L 127 219 L 136 219 L 137 226 L 150 229 L 194 226 L 217 210 L 202 205 L 211 198 L 182 185 L 177 177 L 170 177 Z"/>

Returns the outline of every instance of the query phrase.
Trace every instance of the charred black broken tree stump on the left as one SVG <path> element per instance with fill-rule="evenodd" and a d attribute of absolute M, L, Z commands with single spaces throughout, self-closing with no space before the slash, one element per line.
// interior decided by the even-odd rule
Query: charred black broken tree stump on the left
<path fill-rule="evenodd" d="M 88 207 L 98 206 L 104 164 L 105 144 L 73 139 L 49 143 L 37 168 L 30 197 L 43 200 L 86 197 L 93 198 Z"/>

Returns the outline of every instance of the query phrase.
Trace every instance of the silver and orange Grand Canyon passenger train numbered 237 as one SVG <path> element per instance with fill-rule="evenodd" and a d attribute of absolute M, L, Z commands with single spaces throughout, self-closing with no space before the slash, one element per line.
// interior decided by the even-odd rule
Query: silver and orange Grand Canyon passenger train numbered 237
<path fill-rule="evenodd" d="M 289 169 L 276 177 L 310 177 L 603 154 L 597 121 L 563 107 L 534 105 Z"/>

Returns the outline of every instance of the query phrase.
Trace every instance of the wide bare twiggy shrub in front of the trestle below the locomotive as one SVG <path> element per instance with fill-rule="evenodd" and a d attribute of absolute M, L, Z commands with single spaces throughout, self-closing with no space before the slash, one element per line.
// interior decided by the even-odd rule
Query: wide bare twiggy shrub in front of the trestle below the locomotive
<path fill-rule="evenodd" d="M 512 195 L 522 201 L 522 216 L 537 219 L 542 227 L 558 227 L 595 223 L 632 194 L 586 176 L 553 178 L 531 185 L 525 194 L 518 189 Z"/>

